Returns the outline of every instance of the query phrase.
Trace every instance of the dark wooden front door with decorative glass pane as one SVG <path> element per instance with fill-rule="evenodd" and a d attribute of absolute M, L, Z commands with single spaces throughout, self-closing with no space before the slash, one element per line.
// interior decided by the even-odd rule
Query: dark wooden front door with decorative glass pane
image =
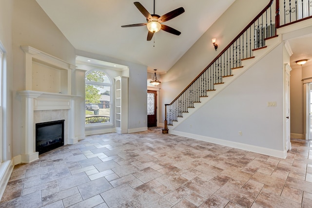
<path fill-rule="evenodd" d="M 147 91 L 147 127 L 157 126 L 156 98 L 157 98 L 156 91 L 152 91 L 152 90 Z"/>

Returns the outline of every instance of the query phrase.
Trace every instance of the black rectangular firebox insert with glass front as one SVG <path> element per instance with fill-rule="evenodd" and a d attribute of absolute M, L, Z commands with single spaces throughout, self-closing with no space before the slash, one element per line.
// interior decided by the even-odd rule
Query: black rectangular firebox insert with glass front
<path fill-rule="evenodd" d="M 64 145 L 64 120 L 36 124 L 36 151 L 42 154 Z"/>

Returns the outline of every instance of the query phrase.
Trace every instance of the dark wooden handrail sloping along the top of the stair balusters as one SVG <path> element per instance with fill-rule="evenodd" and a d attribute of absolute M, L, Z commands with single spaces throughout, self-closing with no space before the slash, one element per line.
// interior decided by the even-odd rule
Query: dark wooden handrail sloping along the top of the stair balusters
<path fill-rule="evenodd" d="M 277 0 L 279 1 L 279 0 Z M 222 56 L 222 54 L 227 51 L 231 45 L 241 36 L 245 33 L 245 31 L 254 24 L 254 21 L 257 20 L 259 17 L 261 17 L 261 15 L 271 6 L 271 4 L 273 3 L 273 0 L 270 0 L 269 4 L 232 40 L 232 42 L 230 42 L 229 45 L 227 45 L 227 47 L 225 47 L 223 49 L 223 51 L 221 51 L 221 53 L 215 57 L 215 59 L 198 75 L 196 76 L 196 78 L 179 94 L 176 96 L 176 98 L 170 103 L 170 104 L 165 104 L 166 105 L 172 105 L 203 73 L 205 73 L 205 71 L 219 58 Z M 165 107 L 166 108 L 166 107 Z"/>

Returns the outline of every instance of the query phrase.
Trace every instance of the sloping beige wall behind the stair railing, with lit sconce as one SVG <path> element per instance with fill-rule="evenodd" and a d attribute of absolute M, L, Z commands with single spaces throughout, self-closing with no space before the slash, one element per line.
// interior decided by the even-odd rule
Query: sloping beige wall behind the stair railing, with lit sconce
<path fill-rule="evenodd" d="M 168 73 L 162 75 L 161 123 L 164 120 L 164 104 L 169 104 L 179 95 L 268 3 L 269 0 L 235 0 Z M 217 51 L 212 44 L 212 38 L 217 39 Z"/>

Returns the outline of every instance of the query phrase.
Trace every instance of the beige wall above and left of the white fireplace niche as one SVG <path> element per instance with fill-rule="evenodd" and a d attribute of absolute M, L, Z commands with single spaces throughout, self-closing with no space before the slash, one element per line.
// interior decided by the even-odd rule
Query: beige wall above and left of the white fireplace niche
<path fill-rule="evenodd" d="M 10 0 L 11 1 L 11 0 Z M 13 156 L 20 155 L 21 99 L 17 91 L 25 90 L 24 52 L 20 46 L 31 46 L 75 65 L 75 48 L 44 13 L 36 0 L 12 0 L 13 44 Z M 75 79 L 74 79 L 75 80 Z"/>

